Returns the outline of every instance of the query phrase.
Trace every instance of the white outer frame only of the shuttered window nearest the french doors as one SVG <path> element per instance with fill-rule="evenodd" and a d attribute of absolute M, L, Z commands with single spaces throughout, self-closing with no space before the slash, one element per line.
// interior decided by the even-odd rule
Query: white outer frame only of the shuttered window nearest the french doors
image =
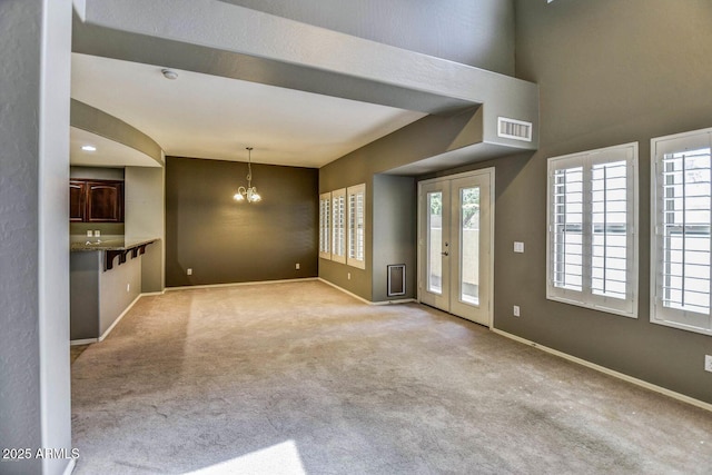
<path fill-rule="evenodd" d="M 613 315 L 637 318 L 639 300 L 639 146 L 637 142 L 622 144 L 565 156 L 552 157 L 547 160 L 546 179 L 546 298 L 564 304 L 576 305 Z M 595 294 L 593 291 L 593 170 L 596 165 L 612 164 L 625 160 L 625 215 L 626 215 L 626 246 L 625 246 L 625 298 Z M 554 284 L 553 249 L 555 240 L 555 172 L 557 170 L 582 167 L 582 271 L 581 290 L 567 289 Z M 630 243 L 630 245 L 629 245 Z M 607 267 L 606 267 L 607 268 Z"/>

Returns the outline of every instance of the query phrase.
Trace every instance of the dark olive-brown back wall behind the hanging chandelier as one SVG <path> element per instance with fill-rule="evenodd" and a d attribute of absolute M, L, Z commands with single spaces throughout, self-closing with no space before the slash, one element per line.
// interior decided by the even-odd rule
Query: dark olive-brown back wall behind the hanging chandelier
<path fill-rule="evenodd" d="M 317 276 L 318 170 L 253 164 L 263 200 L 240 204 L 247 164 L 166 162 L 168 287 Z"/>

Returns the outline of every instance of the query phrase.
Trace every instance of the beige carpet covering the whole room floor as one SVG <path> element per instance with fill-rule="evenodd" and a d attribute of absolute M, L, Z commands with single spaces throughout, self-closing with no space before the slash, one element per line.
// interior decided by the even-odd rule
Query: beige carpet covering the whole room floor
<path fill-rule="evenodd" d="M 72 365 L 76 474 L 710 474 L 712 414 L 319 281 L 144 297 Z"/>

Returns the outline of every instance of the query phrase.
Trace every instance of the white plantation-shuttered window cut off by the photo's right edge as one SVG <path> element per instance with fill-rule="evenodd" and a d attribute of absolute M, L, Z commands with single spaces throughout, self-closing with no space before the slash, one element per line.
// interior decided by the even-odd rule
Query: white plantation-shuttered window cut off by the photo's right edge
<path fill-rule="evenodd" d="M 712 335 L 712 129 L 651 141 L 651 321 Z"/>

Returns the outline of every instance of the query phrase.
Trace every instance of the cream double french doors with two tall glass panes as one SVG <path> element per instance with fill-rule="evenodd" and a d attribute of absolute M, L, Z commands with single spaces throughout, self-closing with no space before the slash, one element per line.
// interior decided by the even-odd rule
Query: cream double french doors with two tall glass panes
<path fill-rule="evenodd" d="M 488 168 L 418 186 L 418 299 L 492 324 L 492 195 Z"/>

